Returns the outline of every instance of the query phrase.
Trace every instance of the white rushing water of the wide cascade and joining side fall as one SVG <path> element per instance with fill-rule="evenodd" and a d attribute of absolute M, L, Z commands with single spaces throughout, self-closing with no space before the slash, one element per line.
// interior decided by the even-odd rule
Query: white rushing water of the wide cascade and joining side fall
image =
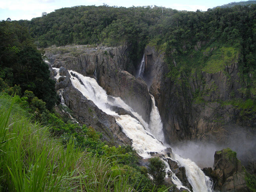
<path fill-rule="evenodd" d="M 57 72 L 57 76 L 59 76 L 58 69 L 54 69 Z M 72 85 L 76 89 L 80 90 L 88 100 L 93 101 L 99 109 L 115 117 L 117 124 L 122 127 L 122 131 L 132 139 L 132 147 L 141 157 L 150 158 L 150 152 L 163 154 L 166 157 L 165 160 L 171 158 L 173 161 L 176 161 L 179 166 L 186 168 L 186 175 L 194 192 L 213 191 L 211 189 L 213 185 L 212 181 L 209 177 L 204 175 L 195 162 L 192 162 L 190 159 L 184 159 L 174 153 L 171 154 L 171 157 L 166 156 L 165 149 L 167 147 L 161 142 L 164 141 L 163 124 L 153 96 L 151 96 L 153 105 L 150 113 L 150 124 L 148 125 L 147 122 L 145 122 L 138 113 L 135 113 L 129 105 L 124 103 L 121 98 L 111 97 L 111 99 L 108 99 L 109 96 L 106 94 L 106 91 L 98 85 L 95 79 L 83 76 L 72 70 L 69 70 L 69 73 Z M 139 121 L 128 114 L 119 115 L 115 113 L 115 111 L 111 110 L 111 106 L 122 107 L 130 111 Z M 169 168 L 169 164 L 166 161 L 164 162 L 167 165 L 166 171 L 172 172 Z M 186 186 L 182 186 L 182 182 L 174 173 L 171 179 L 177 188 L 189 190 Z"/>

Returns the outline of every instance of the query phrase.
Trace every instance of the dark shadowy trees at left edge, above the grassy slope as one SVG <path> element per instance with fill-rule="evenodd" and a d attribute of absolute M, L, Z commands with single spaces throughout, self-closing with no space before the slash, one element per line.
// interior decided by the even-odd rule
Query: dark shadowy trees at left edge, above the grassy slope
<path fill-rule="evenodd" d="M 17 22 L 0 22 L 0 78 L 9 94 L 25 90 L 46 102 L 52 109 L 56 102 L 55 82 L 50 79 L 48 65 L 33 44 L 28 28 Z M 8 86 L 6 88 L 6 85 Z"/>

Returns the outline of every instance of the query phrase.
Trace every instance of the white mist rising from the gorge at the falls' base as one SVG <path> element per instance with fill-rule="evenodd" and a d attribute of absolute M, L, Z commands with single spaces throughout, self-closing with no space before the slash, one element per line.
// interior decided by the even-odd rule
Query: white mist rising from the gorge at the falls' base
<path fill-rule="evenodd" d="M 229 131 L 228 131 L 229 132 Z M 237 153 L 237 159 L 250 170 L 255 172 L 256 135 L 255 130 L 233 127 L 226 137 L 218 142 L 183 141 L 172 146 L 172 150 L 184 158 L 196 162 L 200 168 L 213 167 L 215 151 L 230 148 Z M 254 162 L 254 163 L 253 163 Z"/>

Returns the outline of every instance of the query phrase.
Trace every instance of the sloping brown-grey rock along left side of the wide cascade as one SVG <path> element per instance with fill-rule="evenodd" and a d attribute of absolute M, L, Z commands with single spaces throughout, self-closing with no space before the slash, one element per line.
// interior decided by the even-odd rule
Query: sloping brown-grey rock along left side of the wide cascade
<path fill-rule="evenodd" d="M 72 86 L 70 74 L 64 67 L 59 69 L 61 76 L 56 82 L 56 89 L 62 91 L 65 105 L 74 113 L 80 124 L 93 127 L 102 133 L 102 139 L 113 145 L 131 145 L 130 138 L 122 132 L 115 118 L 100 109 L 76 88 Z"/>

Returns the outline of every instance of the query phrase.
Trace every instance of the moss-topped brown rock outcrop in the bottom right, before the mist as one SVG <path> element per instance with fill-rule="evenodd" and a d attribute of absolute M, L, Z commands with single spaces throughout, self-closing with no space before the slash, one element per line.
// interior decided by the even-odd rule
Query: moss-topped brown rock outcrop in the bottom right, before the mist
<path fill-rule="evenodd" d="M 212 168 L 204 168 L 206 175 L 215 181 L 214 189 L 221 192 L 250 192 L 245 181 L 245 169 L 229 148 L 216 151 Z"/>

